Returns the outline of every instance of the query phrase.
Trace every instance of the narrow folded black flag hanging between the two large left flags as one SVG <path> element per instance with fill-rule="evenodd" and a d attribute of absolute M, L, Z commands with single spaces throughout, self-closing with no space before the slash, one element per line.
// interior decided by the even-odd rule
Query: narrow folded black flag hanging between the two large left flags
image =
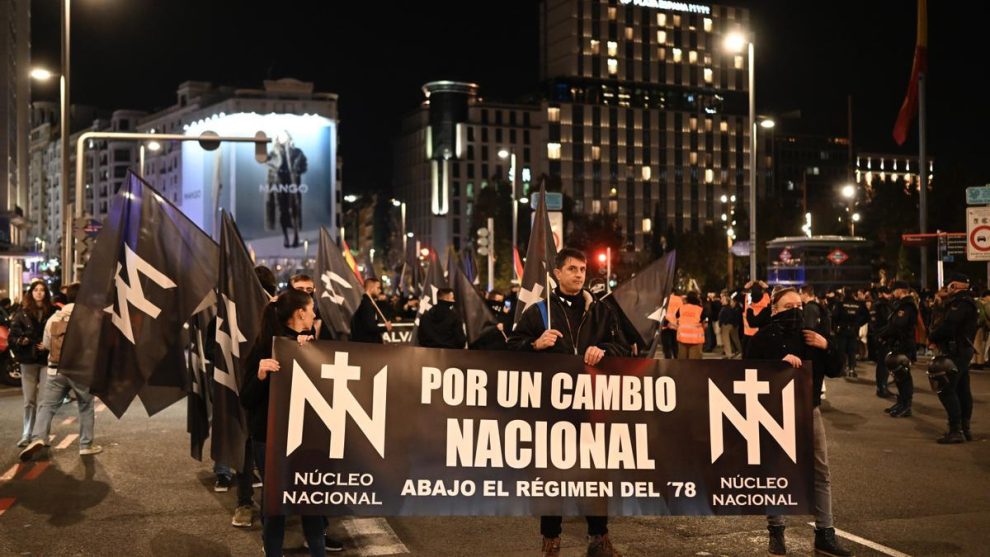
<path fill-rule="evenodd" d="M 209 385 L 213 366 L 209 363 L 204 350 L 207 337 L 204 331 L 210 325 L 210 321 L 208 311 L 201 311 L 193 316 L 189 321 L 189 349 L 186 350 L 189 370 L 186 431 L 189 433 L 189 454 L 200 462 L 203 461 L 203 444 L 210 437 Z"/>

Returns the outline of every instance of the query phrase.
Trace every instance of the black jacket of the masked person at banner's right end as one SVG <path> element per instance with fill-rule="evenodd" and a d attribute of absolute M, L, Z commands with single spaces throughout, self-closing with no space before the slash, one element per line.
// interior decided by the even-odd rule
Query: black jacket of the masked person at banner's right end
<path fill-rule="evenodd" d="M 822 383 L 825 382 L 825 377 L 842 375 L 842 354 L 831 341 L 827 350 L 808 346 L 804 343 L 802 331 L 803 329 L 786 331 L 778 323 L 771 322 L 770 325 L 761 327 L 749 340 L 743 359 L 782 360 L 784 356 L 794 354 L 802 361 L 811 361 L 814 382 L 812 395 L 815 406 L 819 406 L 822 403 Z"/>

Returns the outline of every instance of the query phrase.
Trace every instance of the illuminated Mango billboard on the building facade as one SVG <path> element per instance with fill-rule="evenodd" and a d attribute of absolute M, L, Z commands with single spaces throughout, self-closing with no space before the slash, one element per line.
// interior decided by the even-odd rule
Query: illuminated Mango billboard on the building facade
<path fill-rule="evenodd" d="M 204 230 L 216 236 L 223 208 L 258 257 L 301 257 L 307 240 L 318 242 L 320 226 L 336 229 L 335 121 L 221 113 L 186 128 L 187 135 L 205 131 L 244 137 L 261 131 L 271 142 L 264 162 L 255 159 L 253 143 L 222 143 L 214 151 L 183 143 L 179 205 Z"/>

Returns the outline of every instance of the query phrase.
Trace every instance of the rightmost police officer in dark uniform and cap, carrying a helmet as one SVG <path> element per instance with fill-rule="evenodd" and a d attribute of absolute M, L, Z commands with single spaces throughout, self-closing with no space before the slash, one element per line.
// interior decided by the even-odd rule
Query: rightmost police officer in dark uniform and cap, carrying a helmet
<path fill-rule="evenodd" d="M 969 421 L 973 416 L 973 393 L 969 386 L 969 364 L 973 359 L 978 312 L 969 277 L 953 275 L 945 297 L 945 317 L 932 330 L 929 340 L 956 364 L 956 373 L 948 376 L 948 385 L 938 399 L 949 418 L 949 431 L 938 439 L 940 444 L 962 443 L 973 439 Z"/>

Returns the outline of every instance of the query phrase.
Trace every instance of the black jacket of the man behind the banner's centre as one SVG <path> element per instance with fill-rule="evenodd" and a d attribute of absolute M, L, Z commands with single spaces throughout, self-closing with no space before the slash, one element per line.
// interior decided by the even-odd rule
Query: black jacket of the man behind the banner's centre
<path fill-rule="evenodd" d="M 628 356 L 629 346 L 622 340 L 614 312 L 605 304 L 595 300 L 591 292 L 582 290 L 581 293 L 584 297 L 584 313 L 578 323 L 571 323 L 567 318 L 564 302 L 557 296 L 557 291 L 551 294 L 550 326 L 564 336 L 543 352 L 584 356 L 589 346 L 597 346 L 604 350 L 607 356 Z M 523 312 L 519 323 L 509 335 L 509 350 L 535 352 L 533 342 L 546 329 L 543 314 L 536 304 L 532 304 Z"/>

